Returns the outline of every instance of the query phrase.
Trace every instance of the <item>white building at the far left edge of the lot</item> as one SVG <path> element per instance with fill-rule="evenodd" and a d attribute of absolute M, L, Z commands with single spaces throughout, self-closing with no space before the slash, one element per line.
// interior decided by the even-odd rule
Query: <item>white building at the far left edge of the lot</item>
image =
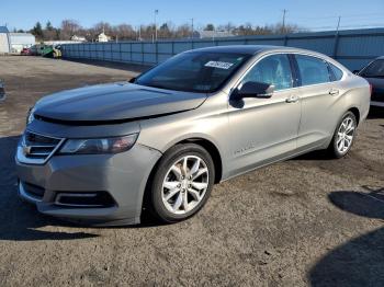
<path fill-rule="evenodd" d="M 35 45 L 35 36 L 31 33 L 10 33 L 5 26 L 0 26 L 0 54 L 16 53 Z"/>

